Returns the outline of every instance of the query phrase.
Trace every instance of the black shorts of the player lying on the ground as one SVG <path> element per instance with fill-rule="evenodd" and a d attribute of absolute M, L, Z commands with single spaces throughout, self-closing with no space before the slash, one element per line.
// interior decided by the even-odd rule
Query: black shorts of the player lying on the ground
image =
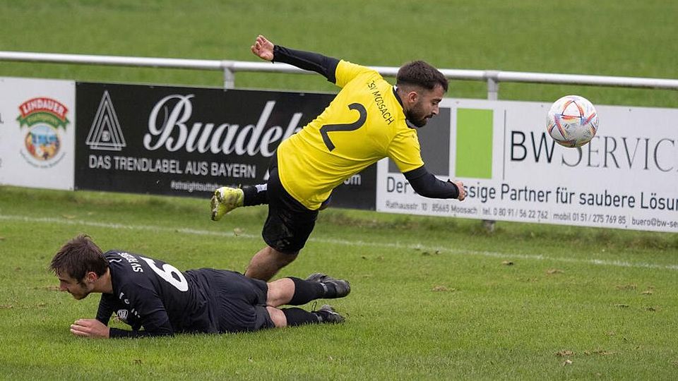
<path fill-rule="evenodd" d="M 214 317 L 219 332 L 249 332 L 273 328 L 266 310 L 268 284 L 230 270 L 201 269 L 210 279 L 210 294 L 215 300 Z"/>

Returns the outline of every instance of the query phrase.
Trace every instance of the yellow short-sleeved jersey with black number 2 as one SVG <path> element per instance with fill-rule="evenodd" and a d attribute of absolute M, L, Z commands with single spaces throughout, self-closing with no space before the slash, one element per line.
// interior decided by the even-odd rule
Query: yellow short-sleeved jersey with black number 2
<path fill-rule="evenodd" d="M 340 61 L 342 90 L 316 119 L 278 146 L 287 193 L 310 210 L 359 171 L 390 157 L 402 172 L 424 165 L 417 131 L 405 122 L 394 87 L 365 66 Z"/>

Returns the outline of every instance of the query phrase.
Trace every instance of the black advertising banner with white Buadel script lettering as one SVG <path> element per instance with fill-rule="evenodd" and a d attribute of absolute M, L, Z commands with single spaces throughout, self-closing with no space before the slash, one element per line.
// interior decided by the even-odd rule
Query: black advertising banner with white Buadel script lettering
<path fill-rule="evenodd" d="M 75 188 L 208 198 L 268 179 L 280 142 L 333 95 L 76 84 Z M 374 210 L 376 165 L 347 179 L 332 206 Z"/>

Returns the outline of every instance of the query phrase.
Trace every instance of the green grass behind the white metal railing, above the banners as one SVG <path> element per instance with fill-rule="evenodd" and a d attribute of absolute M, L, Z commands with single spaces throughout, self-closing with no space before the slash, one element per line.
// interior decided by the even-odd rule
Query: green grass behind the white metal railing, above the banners
<path fill-rule="evenodd" d="M 678 3 L 561 1 L 4 1 L 0 49 L 256 61 L 258 33 L 289 47 L 374 66 L 425 59 L 440 68 L 678 78 Z M 11 63 L 0 75 L 222 86 L 222 74 Z M 238 87 L 335 91 L 311 75 L 237 73 Z M 451 97 L 486 97 L 458 81 Z M 678 107 L 678 92 L 501 84 L 501 99 Z"/>

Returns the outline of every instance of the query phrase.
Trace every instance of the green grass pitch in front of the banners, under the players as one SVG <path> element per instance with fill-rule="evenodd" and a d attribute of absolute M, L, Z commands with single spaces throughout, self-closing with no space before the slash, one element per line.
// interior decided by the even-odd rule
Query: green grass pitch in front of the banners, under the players
<path fill-rule="evenodd" d="M 678 372 L 678 237 L 348 210 L 321 213 L 280 276 L 350 279 L 340 326 L 138 340 L 73 337 L 98 297 L 47 271 L 76 234 L 181 270 L 242 270 L 265 209 L 211 222 L 208 202 L 0 188 L 3 378 L 670 379 Z M 564 365 L 571 361 L 571 365 Z"/>

